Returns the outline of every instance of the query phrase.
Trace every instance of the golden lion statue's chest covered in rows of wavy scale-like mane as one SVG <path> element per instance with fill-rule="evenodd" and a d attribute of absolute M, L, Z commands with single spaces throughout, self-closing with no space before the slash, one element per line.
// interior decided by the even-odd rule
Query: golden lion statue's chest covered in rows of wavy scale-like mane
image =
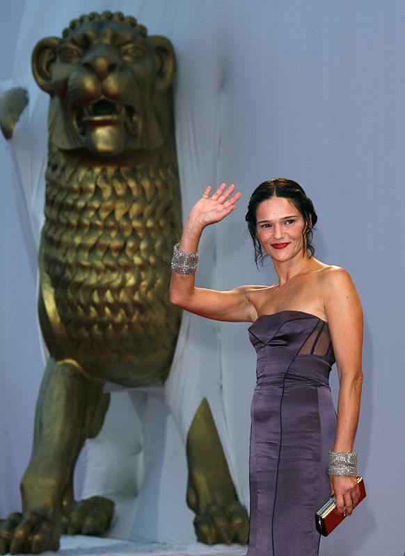
<path fill-rule="evenodd" d="M 152 343 L 159 350 L 164 334 L 171 350 L 178 314 L 168 282 L 178 197 L 170 167 L 49 167 L 44 270 L 74 345 L 139 352 Z"/>

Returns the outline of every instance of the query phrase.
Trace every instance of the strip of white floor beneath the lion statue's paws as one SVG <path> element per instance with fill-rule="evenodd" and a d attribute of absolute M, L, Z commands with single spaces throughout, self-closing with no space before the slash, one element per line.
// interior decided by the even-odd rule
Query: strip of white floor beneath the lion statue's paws
<path fill-rule="evenodd" d="M 164 543 L 136 543 L 118 539 L 102 539 L 74 535 L 63 536 L 58 553 L 46 552 L 47 556 L 244 556 L 246 546 L 216 544 L 207 546 L 202 543 L 189 545 L 169 545 Z"/>

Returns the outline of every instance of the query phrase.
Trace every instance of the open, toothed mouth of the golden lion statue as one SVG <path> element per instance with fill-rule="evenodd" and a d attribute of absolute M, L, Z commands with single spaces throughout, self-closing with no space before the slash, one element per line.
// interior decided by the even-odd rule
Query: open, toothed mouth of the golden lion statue
<path fill-rule="evenodd" d="M 87 123 L 103 124 L 113 120 L 126 120 L 127 126 L 132 128 L 137 120 L 134 107 L 102 99 L 77 108 L 76 124 L 81 133 Z"/>

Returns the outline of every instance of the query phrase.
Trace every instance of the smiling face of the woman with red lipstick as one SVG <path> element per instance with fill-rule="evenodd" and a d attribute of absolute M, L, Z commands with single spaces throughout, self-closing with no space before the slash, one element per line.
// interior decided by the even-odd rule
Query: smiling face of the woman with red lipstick
<path fill-rule="evenodd" d="M 302 257 L 304 226 L 299 209 L 285 197 L 272 197 L 257 206 L 257 237 L 274 261 Z"/>

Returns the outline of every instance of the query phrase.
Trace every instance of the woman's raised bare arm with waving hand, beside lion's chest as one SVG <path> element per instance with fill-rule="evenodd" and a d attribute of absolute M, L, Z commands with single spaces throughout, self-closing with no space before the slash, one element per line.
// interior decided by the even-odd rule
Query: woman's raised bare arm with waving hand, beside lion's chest
<path fill-rule="evenodd" d="M 237 208 L 236 203 L 241 193 L 235 193 L 235 186 L 226 187 L 223 183 L 216 191 L 211 193 L 208 186 L 201 199 L 193 206 L 184 225 L 184 230 L 178 252 L 177 261 L 184 262 L 186 254 L 194 254 L 198 250 L 198 243 L 202 231 L 209 224 L 220 222 Z M 231 291 L 216 291 L 206 288 L 196 288 L 194 285 L 193 262 L 196 256 L 189 256 L 191 264 L 189 272 L 181 264 L 172 264 L 173 274 L 170 281 L 170 302 L 196 313 L 200 316 L 215 320 L 251 321 L 255 320 L 255 308 L 249 300 L 249 291 L 252 286 L 243 286 Z"/>

